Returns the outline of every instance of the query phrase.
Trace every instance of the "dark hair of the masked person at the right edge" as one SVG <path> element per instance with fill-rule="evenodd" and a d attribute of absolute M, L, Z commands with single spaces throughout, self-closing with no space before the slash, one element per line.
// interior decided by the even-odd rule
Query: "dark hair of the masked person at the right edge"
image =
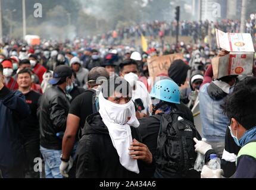
<path fill-rule="evenodd" d="M 227 118 L 235 118 L 245 129 L 256 125 L 256 77 L 247 77 L 236 84 L 221 105 Z"/>

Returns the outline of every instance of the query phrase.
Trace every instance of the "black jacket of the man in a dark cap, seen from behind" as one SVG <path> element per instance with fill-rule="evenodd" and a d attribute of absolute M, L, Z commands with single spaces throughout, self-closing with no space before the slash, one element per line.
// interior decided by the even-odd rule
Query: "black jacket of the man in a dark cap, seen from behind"
<path fill-rule="evenodd" d="M 38 109 L 42 147 L 61 150 L 62 139 L 57 137 L 57 133 L 65 131 L 69 107 L 65 92 L 57 85 L 43 94 Z"/>

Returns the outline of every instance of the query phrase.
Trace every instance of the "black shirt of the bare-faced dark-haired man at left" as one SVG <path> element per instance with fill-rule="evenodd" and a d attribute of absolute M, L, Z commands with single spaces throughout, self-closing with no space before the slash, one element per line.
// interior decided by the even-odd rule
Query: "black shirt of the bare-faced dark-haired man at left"
<path fill-rule="evenodd" d="M 27 105 L 30 107 L 31 114 L 19 123 L 21 134 L 23 135 L 24 140 L 39 139 L 39 120 L 36 115 L 36 110 L 38 109 L 41 94 L 32 90 L 29 93 L 24 94 L 24 96 L 26 97 Z"/>

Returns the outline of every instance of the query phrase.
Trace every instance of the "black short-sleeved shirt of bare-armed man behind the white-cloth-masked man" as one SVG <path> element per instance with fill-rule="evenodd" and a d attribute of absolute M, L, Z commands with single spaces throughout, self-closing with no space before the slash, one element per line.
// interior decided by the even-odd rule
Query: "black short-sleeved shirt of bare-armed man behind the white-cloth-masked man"
<path fill-rule="evenodd" d="M 85 120 L 89 115 L 92 115 L 92 96 L 93 91 L 86 90 L 84 93 L 77 96 L 71 103 L 69 113 L 80 118 L 80 129 L 85 125 Z"/>

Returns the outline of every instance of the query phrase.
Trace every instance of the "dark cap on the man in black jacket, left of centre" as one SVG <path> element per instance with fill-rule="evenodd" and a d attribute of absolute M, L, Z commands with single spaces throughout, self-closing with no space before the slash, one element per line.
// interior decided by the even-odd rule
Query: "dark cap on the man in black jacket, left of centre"
<path fill-rule="evenodd" d="M 54 75 L 52 80 L 49 81 L 49 84 L 55 85 L 62 78 L 72 77 L 72 69 L 67 65 L 59 65 L 54 69 Z"/>

